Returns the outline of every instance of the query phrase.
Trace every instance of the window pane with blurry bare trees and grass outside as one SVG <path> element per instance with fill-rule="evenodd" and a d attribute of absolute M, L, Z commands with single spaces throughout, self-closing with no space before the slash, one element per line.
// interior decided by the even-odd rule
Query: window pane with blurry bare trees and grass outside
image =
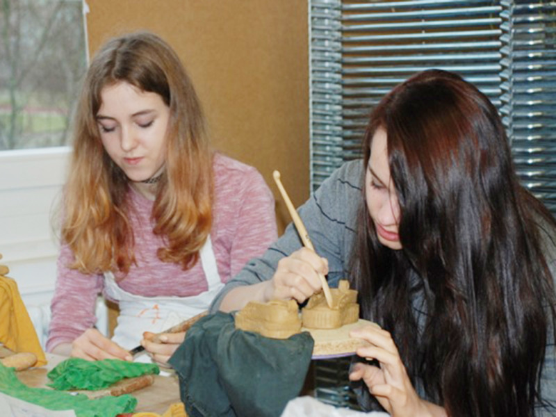
<path fill-rule="evenodd" d="M 81 0 L 0 0 L 0 151 L 70 145 L 85 68 Z"/>

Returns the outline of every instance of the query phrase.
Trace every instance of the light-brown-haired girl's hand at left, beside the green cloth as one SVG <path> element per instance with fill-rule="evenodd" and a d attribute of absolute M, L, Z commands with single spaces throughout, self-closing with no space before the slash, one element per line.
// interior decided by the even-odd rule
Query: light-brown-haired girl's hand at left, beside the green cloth
<path fill-rule="evenodd" d="M 133 357 L 127 350 L 94 328 L 85 330 L 81 336 L 73 341 L 70 356 L 87 359 L 88 361 L 100 359 L 133 361 Z"/>

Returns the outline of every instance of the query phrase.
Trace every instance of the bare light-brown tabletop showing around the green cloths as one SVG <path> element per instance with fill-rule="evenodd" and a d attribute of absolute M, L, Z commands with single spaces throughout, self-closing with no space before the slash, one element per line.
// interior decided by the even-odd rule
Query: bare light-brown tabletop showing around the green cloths
<path fill-rule="evenodd" d="M 66 358 L 63 356 L 47 353 L 48 363 L 46 366 L 22 370 L 17 373 L 17 377 L 27 386 L 48 388 L 46 385 L 49 382 L 47 373 L 64 359 Z M 151 386 L 134 391 L 130 395 L 137 398 L 135 412 L 150 411 L 152 413 L 163 414 L 171 404 L 180 402 L 177 375 L 155 375 L 154 383 Z"/>

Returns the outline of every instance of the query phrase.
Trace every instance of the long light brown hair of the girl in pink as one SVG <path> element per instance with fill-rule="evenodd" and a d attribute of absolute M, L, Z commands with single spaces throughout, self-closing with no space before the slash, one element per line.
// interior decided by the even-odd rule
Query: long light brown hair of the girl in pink
<path fill-rule="evenodd" d="M 152 209 L 154 234 L 164 262 L 190 268 L 212 225 L 212 154 L 202 108 L 172 48 L 152 33 L 113 38 L 96 54 L 85 76 L 63 201 L 63 243 L 74 252 L 72 268 L 85 273 L 129 272 L 135 261 L 129 222 L 128 180 L 104 150 L 95 119 L 101 91 L 126 82 L 161 96 L 170 108 L 165 170 Z"/>

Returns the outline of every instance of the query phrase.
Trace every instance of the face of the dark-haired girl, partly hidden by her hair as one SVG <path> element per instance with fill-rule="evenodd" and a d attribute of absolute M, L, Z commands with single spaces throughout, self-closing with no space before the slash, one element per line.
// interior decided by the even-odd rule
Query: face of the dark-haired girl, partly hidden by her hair
<path fill-rule="evenodd" d="M 370 146 L 370 158 L 365 175 L 367 208 L 380 243 L 390 249 L 400 250 L 400 204 L 390 179 L 386 140 L 386 131 L 377 129 Z"/>

